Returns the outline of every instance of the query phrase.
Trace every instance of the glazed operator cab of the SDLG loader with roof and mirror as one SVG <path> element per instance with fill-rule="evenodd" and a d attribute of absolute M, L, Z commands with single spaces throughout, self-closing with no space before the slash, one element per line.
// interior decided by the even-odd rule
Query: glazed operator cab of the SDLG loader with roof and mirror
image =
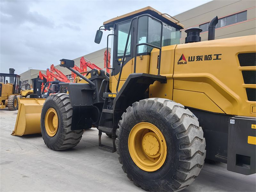
<path fill-rule="evenodd" d="M 101 30 L 111 29 L 113 29 L 113 32 L 108 35 L 108 37 L 113 36 L 110 68 L 112 69 L 111 76 L 115 76 L 120 72 L 123 57 L 124 65 L 126 65 L 134 57 L 140 57 L 141 59 L 143 55 L 150 55 L 153 48 L 158 47 L 161 50 L 162 46 L 179 44 L 180 29 L 183 29 L 183 25 L 168 14 L 158 12 L 152 7 L 145 7 L 105 21 L 96 33 L 95 43 L 100 43 L 102 37 Z M 127 38 L 128 34 L 129 38 Z M 160 43 L 161 41 L 162 43 Z M 145 57 L 150 59 L 150 57 Z M 147 59 L 146 66 L 149 66 L 149 59 Z M 133 60 L 133 62 L 136 61 Z M 129 72 L 135 73 L 135 71 L 136 69 L 131 67 Z M 127 78 L 127 76 L 125 77 Z"/>

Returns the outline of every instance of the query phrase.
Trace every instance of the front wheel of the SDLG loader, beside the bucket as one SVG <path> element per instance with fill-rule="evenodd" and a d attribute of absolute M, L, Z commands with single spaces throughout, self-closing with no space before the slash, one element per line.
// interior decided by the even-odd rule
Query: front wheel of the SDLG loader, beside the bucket
<path fill-rule="evenodd" d="M 71 130 L 73 109 L 66 93 L 50 95 L 41 114 L 41 132 L 44 143 L 52 150 L 75 147 L 84 130 Z"/>

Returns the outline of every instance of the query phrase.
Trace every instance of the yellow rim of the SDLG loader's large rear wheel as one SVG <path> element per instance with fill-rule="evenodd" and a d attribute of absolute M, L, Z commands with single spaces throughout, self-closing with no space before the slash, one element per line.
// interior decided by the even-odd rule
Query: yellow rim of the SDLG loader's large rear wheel
<path fill-rule="evenodd" d="M 153 124 L 136 124 L 128 138 L 128 148 L 133 162 L 142 170 L 153 172 L 162 167 L 167 155 L 163 133 Z"/>

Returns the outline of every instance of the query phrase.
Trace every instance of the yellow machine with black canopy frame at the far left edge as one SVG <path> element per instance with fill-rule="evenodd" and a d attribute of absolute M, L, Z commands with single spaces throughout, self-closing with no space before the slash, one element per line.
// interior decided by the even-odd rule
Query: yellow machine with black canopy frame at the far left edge
<path fill-rule="evenodd" d="M 17 110 L 20 97 L 20 76 L 0 73 L 0 79 L 0 109 L 8 107 L 9 110 Z"/>

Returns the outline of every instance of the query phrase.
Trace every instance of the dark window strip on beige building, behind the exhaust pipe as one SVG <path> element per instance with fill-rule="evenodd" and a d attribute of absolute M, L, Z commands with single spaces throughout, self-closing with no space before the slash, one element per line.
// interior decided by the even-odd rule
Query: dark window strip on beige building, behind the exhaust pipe
<path fill-rule="evenodd" d="M 239 23 L 246 20 L 247 20 L 247 11 L 236 13 L 234 15 L 229 15 L 227 17 L 223 17 L 219 19 L 216 28 L 232 25 L 232 24 Z M 209 23 L 210 22 L 199 25 L 199 28 L 203 30 L 202 33 L 205 31 L 208 31 Z"/>

